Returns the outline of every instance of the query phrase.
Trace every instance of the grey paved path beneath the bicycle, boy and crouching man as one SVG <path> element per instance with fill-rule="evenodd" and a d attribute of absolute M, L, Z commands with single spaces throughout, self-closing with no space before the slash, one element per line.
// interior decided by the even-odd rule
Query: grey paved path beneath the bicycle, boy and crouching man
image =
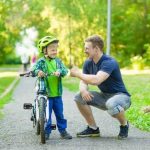
<path fill-rule="evenodd" d="M 130 127 L 129 138 L 117 140 L 118 122 L 107 112 L 93 109 L 101 130 L 100 138 L 76 138 L 76 132 L 84 129 L 84 119 L 73 101 L 74 93 L 64 90 L 64 114 L 68 119 L 68 131 L 72 140 L 62 140 L 58 131 L 53 131 L 45 145 L 40 144 L 30 119 L 30 111 L 23 110 L 23 103 L 34 98 L 34 80 L 22 78 L 16 87 L 13 100 L 5 105 L 5 117 L 0 120 L 0 150 L 149 150 L 150 133 Z M 55 121 L 55 119 L 53 119 Z"/>

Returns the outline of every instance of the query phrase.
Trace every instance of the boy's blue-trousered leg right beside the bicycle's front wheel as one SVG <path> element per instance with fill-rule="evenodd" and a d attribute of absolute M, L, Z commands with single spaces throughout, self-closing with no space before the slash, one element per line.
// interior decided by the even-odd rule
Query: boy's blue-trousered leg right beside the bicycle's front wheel
<path fill-rule="evenodd" d="M 51 133 L 51 124 L 52 124 L 51 114 L 53 109 L 53 102 L 54 102 L 53 98 L 48 99 L 49 116 L 48 116 L 47 124 L 45 126 L 45 133 L 48 135 Z"/>

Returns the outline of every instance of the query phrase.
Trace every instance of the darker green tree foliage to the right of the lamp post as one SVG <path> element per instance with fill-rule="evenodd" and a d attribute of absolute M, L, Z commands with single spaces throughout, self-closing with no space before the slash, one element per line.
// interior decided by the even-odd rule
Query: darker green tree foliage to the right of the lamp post
<path fill-rule="evenodd" d="M 121 66 L 130 64 L 131 57 L 142 56 L 144 44 L 150 39 L 150 1 L 113 1 L 112 8 L 112 54 Z"/>

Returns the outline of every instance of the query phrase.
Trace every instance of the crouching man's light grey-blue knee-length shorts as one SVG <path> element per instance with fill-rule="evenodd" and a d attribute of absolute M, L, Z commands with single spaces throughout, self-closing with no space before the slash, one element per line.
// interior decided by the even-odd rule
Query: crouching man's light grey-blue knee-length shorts
<path fill-rule="evenodd" d="M 86 102 L 82 99 L 81 94 L 77 93 L 74 100 L 83 105 L 91 105 L 102 110 L 107 110 L 110 115 L 118 114 L 123 110 L 127 110 L 131 105 L 130 96 L 125 93 L 100 93 L 89 91 L 94 97 L 91 101 Z"/>

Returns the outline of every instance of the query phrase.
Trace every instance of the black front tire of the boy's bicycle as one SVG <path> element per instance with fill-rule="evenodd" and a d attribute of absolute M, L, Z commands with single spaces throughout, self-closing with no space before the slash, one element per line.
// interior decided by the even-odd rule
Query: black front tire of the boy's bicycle
<path fill-rule="evenodd" d="M 41 143 L 45 144 L 45 98 L 41 97 L 39 99 L 39 121 L 40 121 L 40 136 L 41 136 Z"/>

